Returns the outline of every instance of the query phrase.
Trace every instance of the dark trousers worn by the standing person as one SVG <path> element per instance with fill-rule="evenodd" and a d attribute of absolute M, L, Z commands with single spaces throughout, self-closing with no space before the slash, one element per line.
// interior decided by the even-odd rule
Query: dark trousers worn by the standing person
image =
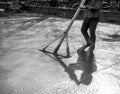
<path fill-rule="evenodd" d="M 85 18 L 82 24 L 81 32 L 88 43 L 91 40 L 93 43 L 96 41 L 95 30 L 98 24 L 99 18 Z M 88 34 L 88 29 L 90 33 Z"/>

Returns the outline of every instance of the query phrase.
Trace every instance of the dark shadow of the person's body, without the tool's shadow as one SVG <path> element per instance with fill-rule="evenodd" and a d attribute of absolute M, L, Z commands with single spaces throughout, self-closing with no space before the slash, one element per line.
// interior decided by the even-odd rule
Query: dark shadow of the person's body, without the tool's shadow
<path fill-rule="evenodd" d="M 96 71 L 95 56 L 92 50 L 84 50 L 84 46 L 77 50 L 77 63 L 70 64 L 73 70 L 82 70 L 80 82 L 78 84 L 89 85 L 92 81 L 92 73 Z"/>

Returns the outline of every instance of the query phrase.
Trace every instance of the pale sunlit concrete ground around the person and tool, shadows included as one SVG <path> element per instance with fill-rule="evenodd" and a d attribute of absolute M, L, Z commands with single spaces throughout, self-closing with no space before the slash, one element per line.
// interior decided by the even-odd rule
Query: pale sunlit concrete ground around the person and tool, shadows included
<path fill-rule="evenodd" d="M 0 18 L 0 94 L 120 94 L 120 25 L 99 23 L 91 52 L 83 50 L 82 21 L 76 20 L 70 58 L 39 51 L 69 22 L 37 14 Z M 66 53 L 65 43 L 59 53 Z"/>

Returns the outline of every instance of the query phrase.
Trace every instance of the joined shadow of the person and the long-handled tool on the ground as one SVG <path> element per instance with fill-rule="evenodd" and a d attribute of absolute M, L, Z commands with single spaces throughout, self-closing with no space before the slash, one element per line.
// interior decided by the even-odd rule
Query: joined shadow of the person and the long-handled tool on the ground
<path fill-rule="evenodd" d="M 44 52 L 46 55 L 60 63 L 60 65 L 64 68 L 65 72 L 68 73 L 71 80 L 73 80 L 77 85 L 85 84 L 89 85 L 92 82 L 92 73 L 97 70 L 97 66 L 95 64 L 95 56 L 93 50 L 85 51 L 84 47 L 81 47 L 77 50 L 79 55 L 77 59 L 77 63 L 70 64 L 67 66 L 62 60 L 63 57 L 57 54 L 51 54 Z M 75 70 L 82 70 L 80 79 L 77 78 L 75 74 Z"/>

